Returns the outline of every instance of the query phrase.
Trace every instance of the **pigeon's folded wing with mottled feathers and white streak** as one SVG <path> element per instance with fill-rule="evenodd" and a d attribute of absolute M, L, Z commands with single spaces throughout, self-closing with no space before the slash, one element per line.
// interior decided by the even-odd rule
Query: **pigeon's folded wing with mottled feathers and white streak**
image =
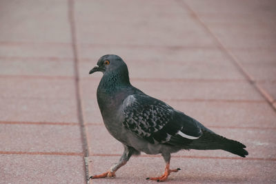
<path fill-rule="evenodd" d="M 197 139 L 201 129 L 189 116 L 146 94 L 128 96 L 122 105 L 124 125 L 150 143 L 177 145 L 181 139 Z M 170 142 L 170 140 L 172 140 Z"/>

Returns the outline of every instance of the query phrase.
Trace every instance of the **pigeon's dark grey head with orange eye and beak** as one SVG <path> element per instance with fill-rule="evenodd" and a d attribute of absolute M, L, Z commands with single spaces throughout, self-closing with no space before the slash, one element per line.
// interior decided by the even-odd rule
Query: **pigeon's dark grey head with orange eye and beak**
<path fill-rule="evenodd" d="M 127 72 L 128 74 L 128 68 L 123 59 L 114 54 L 106 54 L 99 59 L 97 65 L 90 70 L 89 74 L 94 72 L 103 72 L 103 74 L 105 74 L 120 71 Z"/>

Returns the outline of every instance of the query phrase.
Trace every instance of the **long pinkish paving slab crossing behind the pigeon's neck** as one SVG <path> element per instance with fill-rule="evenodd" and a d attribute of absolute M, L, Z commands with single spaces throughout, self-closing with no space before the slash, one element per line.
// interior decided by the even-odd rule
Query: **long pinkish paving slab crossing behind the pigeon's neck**
<path fill-rule="evenodd" d="M 157 99 L 264 101 L 247 81 L 130 81 L 136 88 Z M 91 76 L 91 79 L 85 79 L 81 83 L 84 98 L 95 99 L 99 80 Z"/>

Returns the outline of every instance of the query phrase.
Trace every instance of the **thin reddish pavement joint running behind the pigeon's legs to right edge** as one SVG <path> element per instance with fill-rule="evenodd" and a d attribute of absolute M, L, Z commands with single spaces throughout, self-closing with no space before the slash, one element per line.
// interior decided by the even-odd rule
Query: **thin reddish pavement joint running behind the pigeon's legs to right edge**
<path fill-rule="evenodd" d="M 121 154 L 90 154 L 90 156 L 121 156 Z M 161 158 L 159 154 L 142 154 L 141 157 L 147 158 Z M 139 157 L 137 156 L 137 157 Z M 259 158 L 259 157 L 233 157 L 233 156 L 183 156 L 183 155 L 172 155 L 172 158 L 181 159 L 221 159 L 221 160 L 250 160 L 250 161 L 276 161 L 276 158 Z"/>

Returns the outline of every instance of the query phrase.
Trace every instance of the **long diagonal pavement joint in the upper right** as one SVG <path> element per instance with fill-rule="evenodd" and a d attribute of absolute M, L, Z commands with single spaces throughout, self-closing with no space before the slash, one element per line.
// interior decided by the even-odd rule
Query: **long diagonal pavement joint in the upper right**
<path fill-rule="evenodd" d="M 179 0 L 180 1 L 180 0 Z M 201 21 L 201 19 L 199 18 L 198 14 L 192 9 L 190 8 L 190 6 L 188 6 L 187 3 L 185 3 L 183 0 L 180 1 L 181 5 L 183 8 L 185 8 L 186 10 L 189 10 L 192 14 L 192 17 L 198 21 L 200 23 L 200 25 L 204 28 L 204 30 L 206 30 L 206 32 L 208 32 L 208 34 L 210 34 L 211 37 L 213 37 L 213 39 L 216 41 L 217 43 L 217 47 L 226 54 L 226 56 L 228 56 L 228 58 L 230 59 L 231 63 L 233 63 L 236 68 L 239 70 L 239 72 L 241 72 L 245 78 L 248 80 L 249 83 L 251 83 L 255 89 L 262 94 L 262 96 L 264 96 L 264 99 L 266 99 L 267 103 L 270 105 L 270 107 L 274 110 L 274 112 L 276 112 L 276 108 L 274 107 L 273 103 L 271 103 L 270 101 L 270 95 L 268 94 L 268 92 L 264 92 L 265 90 L 260 90 L 260 88 L 258 88 L 258 86 L 255 83 L 255 79 L 253 78 L 253 76 L 251 76 L 243 67 L 242 63 L 240 63 L 238 61 L 237 58 L 235 58 L 235 56 L 221 43 L 221 41 L 219 40 L 219 38 L 213 34 L 213 32 L 210 30 L 210 28 L 208 28 L 208 26 Z"/>

